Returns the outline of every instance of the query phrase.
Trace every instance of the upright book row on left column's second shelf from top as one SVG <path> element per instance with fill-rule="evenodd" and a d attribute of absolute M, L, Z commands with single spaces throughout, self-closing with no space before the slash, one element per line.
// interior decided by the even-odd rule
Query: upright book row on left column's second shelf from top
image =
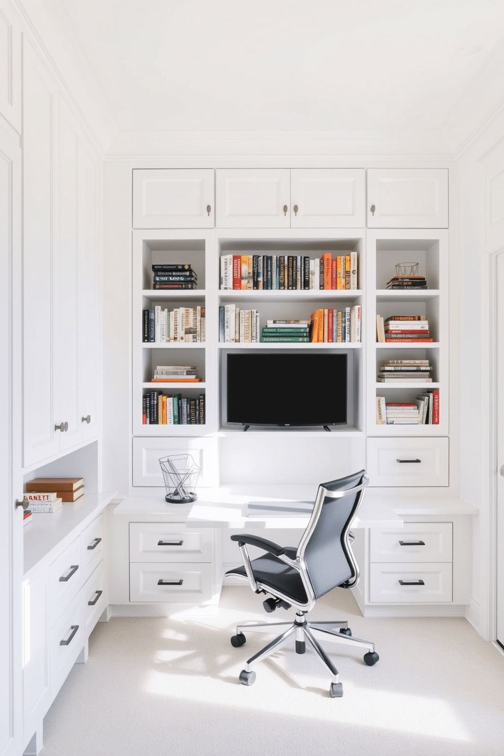
<path fill-rule="evenodd" d="M 142 311 L 142 340 L 147 343 L 204 342 L 206 336 L 204 307 L 177 307 L 173 310 L 156 305 Z"/>

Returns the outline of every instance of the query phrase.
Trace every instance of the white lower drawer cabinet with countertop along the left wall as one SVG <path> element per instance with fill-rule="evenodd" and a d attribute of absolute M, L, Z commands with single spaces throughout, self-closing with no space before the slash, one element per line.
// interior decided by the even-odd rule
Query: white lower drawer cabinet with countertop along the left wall
<path fill-rule="evenodd" d="M 107 609 L 102 510 L 110 494 L 86 494 L 36 514 L 24 534 L 23 696 L 26 753 L 42 748 L 42 720 Z"/>

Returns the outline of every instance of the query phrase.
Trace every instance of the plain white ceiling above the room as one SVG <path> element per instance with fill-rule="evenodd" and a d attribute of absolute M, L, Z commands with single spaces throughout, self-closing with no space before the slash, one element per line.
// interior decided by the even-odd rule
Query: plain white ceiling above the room
<path fill-rule="evenodd" d="M 504 35 L 504 0 L 57 4 L 126 132 L 442 129 Z"/>

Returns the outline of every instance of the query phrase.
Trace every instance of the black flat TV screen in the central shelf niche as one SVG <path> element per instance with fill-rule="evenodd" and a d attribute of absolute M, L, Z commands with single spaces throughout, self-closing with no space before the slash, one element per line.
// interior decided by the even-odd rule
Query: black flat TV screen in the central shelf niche
<path fill-rule="evenodd" d="M 329 426 L 347 422 L 347 355 L 227 354 L 227 422 Z"/>

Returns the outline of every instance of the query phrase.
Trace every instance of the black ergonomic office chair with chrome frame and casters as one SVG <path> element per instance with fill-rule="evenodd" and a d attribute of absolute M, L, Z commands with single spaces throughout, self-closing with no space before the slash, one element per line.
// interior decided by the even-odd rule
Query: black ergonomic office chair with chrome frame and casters
<path fill-rule="evenodd" d="M 252 685 L 255 681 L 252 665 L 276 652 L 292 636 L 295 636 L 296 653 L 305 653 L 305 640 L 308 640 L 331 672 L 329 692 L 332 698 L 343 695 L 343 686 L 339 682 L 338 670 L 314 634 L 368 649 L 363 658 L 369 667 L 378 662 L 379 655 L 374 644 L 351 637 L 347 622 L 308 622 L 305 616 L 314 608 L 317 599 L 329 590 L 337 586 L 351 588 L 359 580 L 359 570 L 351 550 L 354 537 L 349 528 L 368 483 L 369 478 L 364 470 L 339 480 L 321 483 L 298 547 L 281 547 L 265 538 L 246 533 L 231 536 L 231 541 L 238 542 L 243 566 L 230 569 L 226 575 L 248 580 L 255 593 L 271 593 L 271 598 L 263 603 L 267 612 L 273 612 L 278 607 L 290 609 L 294 606 L 296 609 L 292 622 L 254 623 L 237 627 L 236 634 L 231 638 L 235 647 L 243 646 L 246 642 L 244 631 L 282 633 L 247 660 L 246 668 L 240 672 L 240 683 L 243 685 Z M 265 553 L 251 560 L 247 545 L 259 547 Z"/>

